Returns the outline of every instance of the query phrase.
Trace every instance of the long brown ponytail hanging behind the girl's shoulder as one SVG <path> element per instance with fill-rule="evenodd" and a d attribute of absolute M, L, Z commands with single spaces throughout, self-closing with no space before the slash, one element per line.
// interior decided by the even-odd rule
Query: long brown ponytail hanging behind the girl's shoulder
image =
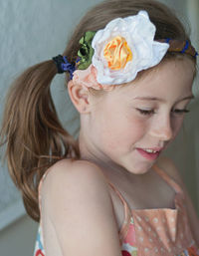
<path fill-rule="evenodd" d="M 10 175 L 22 191 L 27 213 L 36 221 L 40 218 L 38 185 L 46 169 L 59 159 L 80 157 L 78 143 L 62 127 L 51 97 L 56 74 L 53 61 L 26 70 L 7 95 L 0 130 Z"/>

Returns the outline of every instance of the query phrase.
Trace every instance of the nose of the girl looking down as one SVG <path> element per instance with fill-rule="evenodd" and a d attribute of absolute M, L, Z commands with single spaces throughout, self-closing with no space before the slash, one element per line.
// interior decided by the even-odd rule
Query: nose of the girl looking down
<path fill-rule="evenodd" d="M 151 136 L 158 137 L 160 140 L 170 140 L 173 136 L 173 128 L 170 116 L 164 118 L 161 117 L 159 120 L 156 120 L 152 124 L 149 133 Z"/>

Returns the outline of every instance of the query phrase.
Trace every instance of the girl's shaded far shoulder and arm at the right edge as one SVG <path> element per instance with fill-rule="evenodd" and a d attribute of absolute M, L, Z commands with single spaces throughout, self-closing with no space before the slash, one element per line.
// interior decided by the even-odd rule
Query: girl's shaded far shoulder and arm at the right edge
<path fill-rule="evenodd" d="M 186 186 L 180 176 L 178 169 L 175 167 L 172 160 L 167 157 L 161 157 L 158 160 L 157 164 L 164 171 L 166 171 L 183 189 L 184 195 L 185 195 L 185 205 L 186 205 L 186 210 L 188 213 L 190 228 L 191 228 L 191 231 L 193 234 L 193 238 L 194 238 L 197 246 L 199 246 L 199 218 L 196 214 L 193 203 L 191 201 L 191 198 L 188 194 L 188 191 L 187 191 Z"/>

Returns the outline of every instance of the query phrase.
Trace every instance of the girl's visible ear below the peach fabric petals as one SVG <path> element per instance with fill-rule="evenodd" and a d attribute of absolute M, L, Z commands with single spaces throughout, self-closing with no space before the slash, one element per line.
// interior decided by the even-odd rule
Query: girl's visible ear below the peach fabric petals
<path fill-rule="evenodd" d="M 71 80 L 68 83 L 68 92 L 77 111 L 82 114 L 90 112 L 90 94 L 87 88 L 74 84 Z"/>

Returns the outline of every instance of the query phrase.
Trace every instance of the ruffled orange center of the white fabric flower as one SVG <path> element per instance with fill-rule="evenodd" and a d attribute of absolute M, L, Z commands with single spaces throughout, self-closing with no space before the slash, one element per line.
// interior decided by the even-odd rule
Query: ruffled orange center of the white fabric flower
<path fill-rule="evenodd" d="M 111 70 L 123 69 L 132 60 L 132 52 L 124 38 L 117 36 L 109 41 L 103 50 L 103 56 Z"/>

